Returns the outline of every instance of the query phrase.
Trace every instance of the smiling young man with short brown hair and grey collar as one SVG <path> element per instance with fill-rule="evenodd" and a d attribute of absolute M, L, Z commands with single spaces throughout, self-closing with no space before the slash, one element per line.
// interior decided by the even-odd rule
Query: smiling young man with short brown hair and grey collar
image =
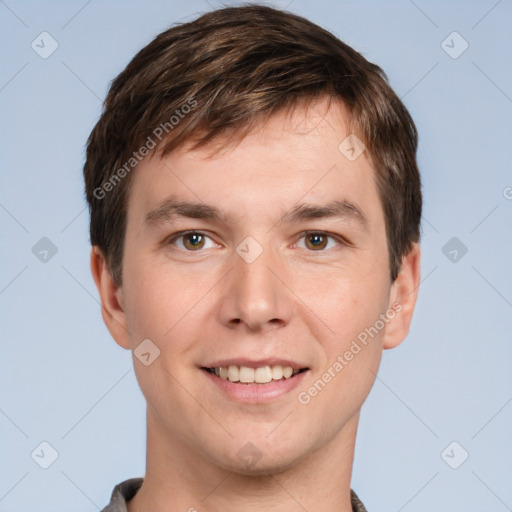
<path fill-rule="evenodd" d="M 114 80 L 84 167 L 91 269 L 147 401 L 104 511 L 364 511 L 361 406 L 420 282 L 414 123 L 290 13 L 177 25 Z"/>

